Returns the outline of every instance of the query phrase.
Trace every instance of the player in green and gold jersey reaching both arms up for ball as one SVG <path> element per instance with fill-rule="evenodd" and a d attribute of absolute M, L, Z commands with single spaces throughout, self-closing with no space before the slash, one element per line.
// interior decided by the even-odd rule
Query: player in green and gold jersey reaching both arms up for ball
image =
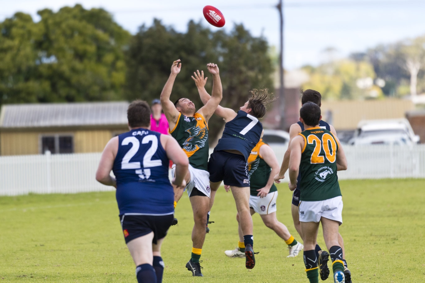
<path fill-rule="evenodd" d="M 215 109 L 223 97 L 223 89 L 217 64 L 207 64 L 208 71 L 212 75 L 212 96 L 203 107 L 196 111 L 195 104 L 188 98 L 178 98 L 175 103 L 171 102 L 170 95 L 174 81 L 180 72 L 180 59 L 173 62 L 171 74 L 161 92 L 161 105 L 170 125 L 170 133 L 180 145 L 181 149 L 189 158 L 189 174 L 185 180 L 185 190 L 189 195 L 193 210 L 195 224 L 192 230 L 192 253 L 186 268 L 193 276 L 203 276 L 199 258 L 201 258 L 202 246 L 205 241 L 205 229 L 207 226 L 207 214 L 210 204 L 210 174 L 208 165 L 208 120 L 214 114 Z M 202 72 L 204 79 L 204 72 Z M 171 175 L 173 175 L 172 169 Z M 175 202 L 177 202 L 183 190 L 175 188 Z M 176 204 L 176 203 L 175 203 Z"/>

